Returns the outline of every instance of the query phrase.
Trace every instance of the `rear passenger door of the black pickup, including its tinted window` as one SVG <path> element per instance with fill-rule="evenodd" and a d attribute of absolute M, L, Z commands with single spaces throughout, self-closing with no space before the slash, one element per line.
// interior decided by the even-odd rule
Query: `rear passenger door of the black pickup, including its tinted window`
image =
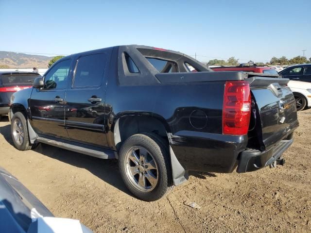
<path fill-rule="evenodd" d="M 111 50 L 77 58 L 66 94 L 66 127 L 70 140 L 107 147 L 104 98 Z"/>

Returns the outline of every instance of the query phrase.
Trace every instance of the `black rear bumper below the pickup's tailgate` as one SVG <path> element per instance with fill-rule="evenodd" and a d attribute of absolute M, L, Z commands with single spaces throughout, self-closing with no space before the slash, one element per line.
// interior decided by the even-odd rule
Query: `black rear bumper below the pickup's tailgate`
<path fill-rule="evenodd" d="M 241 152 L 237 172 L 255 171 L 275 162 L 289 148 L 293 139 L 282 140 L 268 151 L 247 149 Z"/>

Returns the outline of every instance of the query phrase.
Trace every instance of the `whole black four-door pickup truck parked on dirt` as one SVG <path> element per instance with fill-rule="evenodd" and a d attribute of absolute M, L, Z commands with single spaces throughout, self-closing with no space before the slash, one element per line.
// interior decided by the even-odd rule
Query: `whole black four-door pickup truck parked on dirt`
<path fill-rule="evenodd" d="M 18 150 L 46 143 L 119 159 L 129 190 L 157 200 L 189 170 L 247 172 L 279 161 L 299 125 L 288 81 L 214 72 L 154 47 L 82 52 L 12 96 L 12 137 Z"/>

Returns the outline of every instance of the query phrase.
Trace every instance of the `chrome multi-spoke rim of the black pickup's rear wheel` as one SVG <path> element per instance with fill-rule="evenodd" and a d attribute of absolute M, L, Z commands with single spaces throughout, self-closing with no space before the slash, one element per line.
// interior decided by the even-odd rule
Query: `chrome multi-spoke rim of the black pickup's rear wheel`
<path fill-rule="evenodd" d="M 143 147 L 135 146 L 127 151 L 125 173 L 132 185 L 142 192 L 152 191 L 158 183 L 158 168 L 152 154 Z"/>

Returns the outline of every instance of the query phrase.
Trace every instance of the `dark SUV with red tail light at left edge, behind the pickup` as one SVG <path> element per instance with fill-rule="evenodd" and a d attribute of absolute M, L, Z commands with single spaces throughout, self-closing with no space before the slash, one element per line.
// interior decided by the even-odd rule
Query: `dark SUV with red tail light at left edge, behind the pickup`
<path fill-rule="evenodd" d="M 9 103 L 14 92 L 32 87 L 35 78 L 41 75 L 34 72 L 0 71 L 0 119 L 9 113 Z"/>

